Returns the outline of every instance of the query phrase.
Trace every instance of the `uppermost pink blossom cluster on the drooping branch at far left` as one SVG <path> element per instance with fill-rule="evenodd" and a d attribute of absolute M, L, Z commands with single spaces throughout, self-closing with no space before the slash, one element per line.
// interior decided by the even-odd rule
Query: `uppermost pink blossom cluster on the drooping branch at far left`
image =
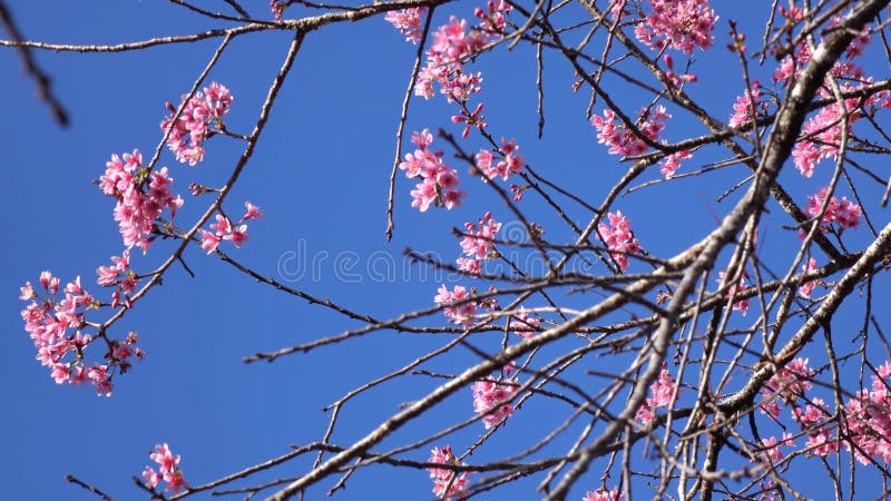
<path fill-rule="evenodd" d="M 275 6 L 273 6 L 275 7 Z M 160 122 L 165 132 L 169 129 L 167 146 L 180 163 L 195 165 L 204 158 L 204 140 L 208 137 L 209 126 L 223 127 L 223 116 L 229 111 L 233 101 L 229 89 L 217 82 L 204 88 L 204 92 L 195 92 L 183 108 L 179 118 L 173 124 L 176 107 L 168 102 L 170 115 Z"/>

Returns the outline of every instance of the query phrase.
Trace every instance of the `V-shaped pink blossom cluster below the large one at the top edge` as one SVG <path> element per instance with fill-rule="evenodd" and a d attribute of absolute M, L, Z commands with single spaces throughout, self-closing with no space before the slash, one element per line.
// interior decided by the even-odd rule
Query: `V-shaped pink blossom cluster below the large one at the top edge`
<path fill-rule="evenodd" d="M 637 120 L 637 128 L 645 137 L 656 140 L 665 129 L 665 120 L 672 118 L 664 106 L 656 111 L 643 109 Z M 605 109 L 604 116 L 591 117 L 591 125 L 597 129 L 597 143 L 609 146 L 611 155 L 637 156 L 643 155 L 649 147 L 643 139 L 635 136 L 625 124 L 616 118 L 616 112 Z"/>

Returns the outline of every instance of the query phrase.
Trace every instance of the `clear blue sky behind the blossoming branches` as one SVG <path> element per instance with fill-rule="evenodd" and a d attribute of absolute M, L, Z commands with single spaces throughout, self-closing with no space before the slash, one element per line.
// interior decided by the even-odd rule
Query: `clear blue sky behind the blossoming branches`
<path fill-rule="evenodd" d="M 62 1 L 9 3 L 27 38 L 52 42 L 115 43 L 217 26 L 157 1 L 95 1 L 89 9 Z M 257 3 L 252 8 L 256 16 L 267 14 L 265 1 L 251 3 Z M 697 56 L 695 72 L 701 84 L 691 90 L 707 106 L 725 110 L 715 112 L 722 118 L 730 116 L 734 96 L 742 88 L 738 71 L 725 71 L 718 66 L 728 60 L 723 49 L 727 38 L 723 21 L 737 19 L 744 27 L 752 27 L 753 39 L 761 35 L 756 29 L 760 21 L 753 17 L 756 9 L 743 8 L 742 3 L 745 2 L 714 2 L 722 16 L 715 33 L 716 48 Z M 449 6 L 437 12 L 434 24 L 444 22 L 447 12 L 470 17 L 473 7 Z M 208 80 L 226 85 L 235 96 L 226 120 L 231 130 L 249 132 L 288 41 L 287 33 L 238 38 L 210 73 Z M 111 55 L 38 53 L 38 61 L 53 76 L 53 90 L 70 114 L 71 126 L 67 129 L 58 128 L 37 101 L 31 80 L 18 71 L 18 56 L 0 50 L 0 68 L 7 76 L 7 111 L 0 115 L 2 164 L 11 185 L 7 189 L 11 197 L 8 207 L 13 209 L 6 223 L 7 245 L 0 249 L 0 291 L 6 291 L 0 303 L 4 305 L 0 325 L 6 333 L 0 337 L 0 385 L 9 409 L 0 414 L 0 430 L 8 448 L 0 460 L 0 479 L 8 499 L 95 499 L 67 484 L 63 477 L 69 473 L 118 499 L 136 498 L 139 493 L 129 478 L 148 464 L 148 450 L 165 441 L 183 455 L 180 466 L 187 480 L 196 484 L 210 481 L 283 454 L 288 444 L 319 440 L 327 424 L 322 406 L 443 343 L 443 337 L 437 335 L 376 333 L 311 355 L 245 365 L 242 357 L 257 351 L 336 334 L 358 323 L 274 293 L 190 248 L 185 258 L 195 278 L 175 266 L 163 286 L 115 326 L 121 336 L 128 330 L 137 331 L 148 355 L 130 373 L 116 377 L 112 397 L 97 397 L 88 387 L 57 386 L 33 360 L 31 341 L 18 314 L 18 287 L 26 281 L 36 282 L 42 269 L 51 269 L 65 281 L 80 275 L 85 287 L 104 294 L 94 285 L 95 269 L 109 256 L 119 254 L 121 243 L 111 216 L 114 203 L 91 180 L 102 174 L 112 153 L 139 148 L 150 155 L 160 139 L 158 124 L 166 114 L 164 104 L 176 101 L 188 90 L 216 45 L 212 40 Z M 384 210 L 394 134 L 414 50 L 382 19 L 331 26 L 307 37 L 256 154 L 226 203 L 229 212 L 238 213 L 243 202 L 249 199 L 263 208 L 266 218 L 249 225 L 251 240 L 242 249 L 225 250 L 264 275 L 376 317 L 432 305 L 439 282 L 430 275 L 414 275 L 420 269 L 405 264 L 402 249 L 410 246 L 433 250 L 444 261 L 452 261 L 460 248 L 450 235 L 451 227 L 476 222 L 488 209 L 499 220 L 510 222 L 511 215 L 502 205 L 493 205 L 488 188 L 458 165 L 462 187 L 469 193 L 464 207 L 420 214 L 410 207 L 413 183 L 400 173 L 395 236 L 393 242 L 385 242 Z M 596 134 L 584 115 L 587 96 L 570 92 L 568 66 L 551 56 L 546 59 L 546 67 L 548 124 L 544 139 L 538 141 L 533 52 L 521 45 L 511 53 L 501 51 L 478 62 L 476 69 L 484 76 L 490 131 L 496 137 L 516 137 L 526 159 L 538 171 L 599 204 L 623 168 L 596 144 Z M 619 96 L 627 106 L 639 101 L 634 90 Z M 446 127 L 458 134 L 460 127 L 449 122 L 451 115 L 442 99 L 414 100 L 407 130 Z M 677 129 L 666 132 L 669 139 L 702 134 L 699 129 L 688 132 L 681 128 L 689 124 L 688 119 L 678 117 L 678 122 Z M 463 145 L 473 150 L 482 144 L 471 137 Z M 235 164 L 239 147 L 235 140 L 214 138 L 205 161 L 196 167 L 180 165 L 164 153 L 159 165 L 170 167 L 175 187 L 186 198 L 186 206 L 177 216 L 183 224 L 195 220 L 209 203 L 188 195 L 186 185 L 222 183 Z M 716 159 L 704 154 L 695 164 Z M 645 248 L 656 255 L 670 255 L 713 227 L 711 212 L 724 214 L 734 197 L 721 205 L 713 200 L 745 175 L 742 168 L 725 169 L 708 177 L 663 185 L 629 195 L 616 208 L 634 220 Z M 825 184 L 828 176 L 829 169 L 824 169 L 817 179 L 791 190 L 804 204 L 804 196 Z M 656 173 L 649 178 L 655 177 Z M 525 203 L 532 220 L 545 225 L 549 238 L 570 238 L 568 228 L 539 200 L 529 197 Z M 577 206 L 572 209 L 574 219 L 584 225 L 587 215 Z M 773 225 L 765 246 L 777 249 L 773 256 L 782 263 L 780 259 L 793 252 L 789 245 L 794 244 L 794 238 L 783 234 L 779 225 L 789 222 L 775 206 L 767 220 Z M 854 235 L 851 242 L 860 244 L 864 236 Z M 170 243 L 156 242 L 147 256 L 134 258 L 134 266 L 150 269 L 172 248 Z M 302 275 L 292 267 L 295 262 L 288 259 L 297 255 L 309 256 L 300 262 L 307 264 L 315 257 L 320 263 L 317 276 L 311 267 Z M 358 259 L 355 268 L 346 269 L 355 273 L 350 275 L 354 279 L 344 278 L 344 269 L 336 268 L 352 259 L 344 256 Z M 399 269 L 395 279 L 374 279 L 373 269 L 369 269 L 374 259 L 392 263 Z M 595 298 L 571 296 L 566 301 L 580 306 Z M 434 316 L 431 322 L 443 321 Z M 497 341 L 481 340 L 479 346 L 495 350 Z M 457 373 L 473 360 L 464 351 L 425 367 Z M 341 416 L 335 440 L 351 443 L 396 412 L 399 404 L 419 399 L 435 384 L 437 381 L 410 376 L 356 399 Z M 470 400 L 469 390 L 447 400 L 430 421 L 407 426 L 383 446 L 404 443 L 469 418 Z M 549 422 L 554 415 L 549 405 L 552 404 L 530 402 L 473 460 L 496 458 L 503 453 L 501 448 L 516 450 L 517 439 L 540 432 L 542 423 Z M 460 448 L 481 431 L 481 425 L 471 426 L 449 442 Z M 422 448 L 413 458 L 427 459 L 428 449 Z M 262 478 L 287 477 L 307 466 L 306 461 L 295 462 Z M 585 485 L 597 485 L 601 469 L 603 464 L 595 463 L 588 478 L 572 491 L 576 499 L 584 494 Z M 505 492 L 526 492 L 522 499 L 527 499 L 538 480 L 519 482 L 513 491 Z M 321 498 L 330 487 L 331 482 L 323 482 L 311 491 L 310 499 Z M 368 499 L 369 493 L 374 493 L 372 499 L 424 499 L 429 489 L 423 472 L 379 466 L 354 475 L 337 498 Z"/>

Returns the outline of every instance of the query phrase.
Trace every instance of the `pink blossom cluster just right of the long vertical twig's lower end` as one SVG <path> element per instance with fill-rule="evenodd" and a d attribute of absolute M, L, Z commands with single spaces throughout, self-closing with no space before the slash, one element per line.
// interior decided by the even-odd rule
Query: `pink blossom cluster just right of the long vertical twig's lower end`
<path fill-rule="evenodd" d="M 461 198 L 467 194 L 458 189 L 458 171 L 442 161 L 442 151 L 430 149 L 430 144 L 433 143 L 430 130 L 412 134 L 411 141 L 418 149 L 413 154 L 405 154 L 405 161 L 399 164 L 399 168 L 409 178 L 421 178 L 421 183 L 411 191 L 411 206 L 418 207 L 422 213 L 431 204 L 444 206 L 447 209 L 460 207 Z"/>

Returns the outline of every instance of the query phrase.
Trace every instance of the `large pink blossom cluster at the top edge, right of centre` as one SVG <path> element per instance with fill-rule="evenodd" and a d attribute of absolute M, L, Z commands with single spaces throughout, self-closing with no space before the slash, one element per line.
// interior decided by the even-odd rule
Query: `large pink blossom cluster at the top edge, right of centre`
<path fill-rule="evenodd" d="M 670 47 L 692 55 L 712 47 L 717 16 L 707 0 L 647 0 L 652 12 L 635 27 L 634 35 L 653 50 Z M 614 16 L 619 13 L 614 9 Z"/>

